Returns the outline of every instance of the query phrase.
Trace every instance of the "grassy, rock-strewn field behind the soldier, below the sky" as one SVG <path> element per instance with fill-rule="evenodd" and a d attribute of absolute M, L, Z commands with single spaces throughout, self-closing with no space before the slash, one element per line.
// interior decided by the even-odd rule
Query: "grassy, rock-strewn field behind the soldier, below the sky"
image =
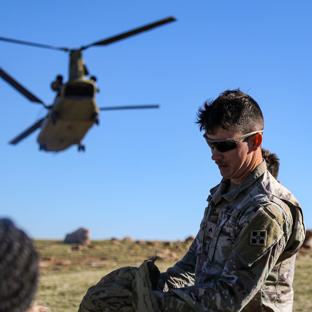
<path fill-rule="evenodd" d="M 87 289 L 109 272 L 123 266 L 139 266 L 158 250 L 161 272 L 182 258 L 188 242 L 92 241 L 91 248 L 35 241 L 41 256 L 38 305 L 52 312 L 76 312 Z M 312 253 L 300 252 L 295 269 L 295 312 L 312 310 Z"/>

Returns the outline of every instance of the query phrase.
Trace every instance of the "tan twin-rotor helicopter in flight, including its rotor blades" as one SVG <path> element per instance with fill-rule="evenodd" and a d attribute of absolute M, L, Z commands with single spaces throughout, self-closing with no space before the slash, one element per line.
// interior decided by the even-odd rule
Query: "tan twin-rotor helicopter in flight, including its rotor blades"
<path fill-rule="evenodd" d="M 24 88 L 20 83 L 18 83 L 14 78 L 9 76 L 3 69 L 0 68 L 0 76 L 10 85 L 12 85 L 12 87 L 26 96 L 32 102 L 40 103 L 49 110 L 46 117 L 37 121 L 9 143 L 17 144 L 36 129 L 41 128 L 40 134 L 37 138 L 39 148 L 41 150 L 58 152 L 67 149 L 73 144 L 77 144 L 78 150 L 84 151 L 85 146 L 81 144 L 81 141 L 91 126 L 93 124 L 99 123 L 98 114 L 100 110 L 159 107 L 158 105 L 138 105 L 98 108 L 95 102 L 95 94 L 98 92 L 95 84 L 96 79 L 95 77 L 90 77 L 90 79 L 86 78 L 86 75 L 89 75 L 89 72 L 85 66 L 84 60 L 82 59 L 81 51 L 91 46 L 108 45 L 112 42 L 133 36 L 140 32 L 144 32 L 173 21 L 175 21 L 174 17 L 168 17 L 143 27 L 121 33 L 114 37 L 97 41 L 87 46 L 82 46 L 80 49 L 49 46 L 39 43 L 0 37 L 0 40 L 2 41 L 70 52 L 69 80 L 66 83 L 63 83 L 62 76 L 57 76 L 56 81 L 52 82 L 51 88 L 57 92 L 56 98 L 52 105 L 44 104 L 40 99 L 38 99 L 35 95 L 33 95 L 30 91 Z"/>

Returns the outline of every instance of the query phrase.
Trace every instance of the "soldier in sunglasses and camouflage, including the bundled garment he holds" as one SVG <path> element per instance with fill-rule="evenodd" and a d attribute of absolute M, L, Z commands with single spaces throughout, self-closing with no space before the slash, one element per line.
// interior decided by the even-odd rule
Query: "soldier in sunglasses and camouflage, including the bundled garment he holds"
<path fill-rule="evenodd" d="M 197 116 L 223 178 L 188 253 L 164 273 L 150 259 L 106 275 L 79 311 L 292 311 L 305 226 L 300 204 L 262 159 L 261 110 L 227 90 Z"/>

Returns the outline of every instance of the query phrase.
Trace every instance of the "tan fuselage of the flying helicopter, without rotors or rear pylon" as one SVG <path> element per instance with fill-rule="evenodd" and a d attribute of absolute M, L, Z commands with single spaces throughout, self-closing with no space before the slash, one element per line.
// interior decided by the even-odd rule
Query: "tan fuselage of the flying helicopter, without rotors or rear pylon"
<path fill-rule="evenodd" d="M 37 141 L 40 149 L 61 151 L 78 144 L 98 123 L 99 109 L 95 102 L 95 81 L 70 80 L 60 87 L 55 101 L 41 124 Z"/>

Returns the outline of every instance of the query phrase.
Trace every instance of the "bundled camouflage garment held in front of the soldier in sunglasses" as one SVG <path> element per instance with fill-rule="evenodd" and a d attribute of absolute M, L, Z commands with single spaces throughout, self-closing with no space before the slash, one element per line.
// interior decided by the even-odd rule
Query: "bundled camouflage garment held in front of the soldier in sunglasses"
<path fill-rule="evenodd" d="M 127 266 L 105 275 L 88 289 L 78 312 L 160 312 L 153 293 L 159 278 L 155 261 L 156 256 L 139 268 Z"/>

